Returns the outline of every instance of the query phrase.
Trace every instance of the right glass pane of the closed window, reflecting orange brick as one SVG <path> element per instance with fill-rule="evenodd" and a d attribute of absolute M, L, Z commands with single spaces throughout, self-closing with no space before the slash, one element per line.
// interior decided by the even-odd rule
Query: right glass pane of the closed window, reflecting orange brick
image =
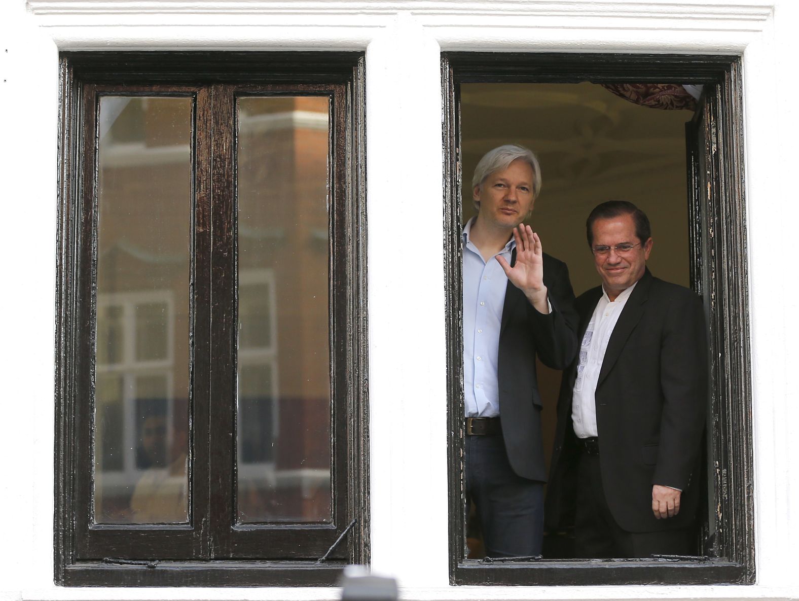
<path fill-rule="evenodd" d="M 237 514 L 329 522 L 328 98 L 239 98 Z"/>

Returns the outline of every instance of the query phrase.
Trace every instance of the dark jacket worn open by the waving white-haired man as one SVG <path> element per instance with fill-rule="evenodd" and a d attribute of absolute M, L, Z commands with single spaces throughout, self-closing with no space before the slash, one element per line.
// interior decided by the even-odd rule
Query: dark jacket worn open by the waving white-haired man
<path fill-rule="evenodd" d="M 515 262 L 516 253 L 511 257 Z M 577 352 L 577 314 L 566 264 L 543 256 L 544 285 L 552 305 L 539 313 L 524 293 L 507 283 L 499 329 L 499 418 L 514 472 L 529 480 L 547 480 L 541 440 L 541 408 L 536 354 L 543 364 L 563 369 Z"/>

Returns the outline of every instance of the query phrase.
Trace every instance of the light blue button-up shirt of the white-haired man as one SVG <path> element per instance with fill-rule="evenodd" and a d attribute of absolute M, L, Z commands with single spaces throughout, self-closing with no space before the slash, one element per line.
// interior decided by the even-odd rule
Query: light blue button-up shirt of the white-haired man
<path fill-rule="evenodd" d="M 499 327 L 507 276 L 495 257 L 483 261 L 469 239 L 474 217 L 463 228 L 463 404 L 467 417 L 499 416 Z M 498 253 L 511 262 L 511 237 Z"/>

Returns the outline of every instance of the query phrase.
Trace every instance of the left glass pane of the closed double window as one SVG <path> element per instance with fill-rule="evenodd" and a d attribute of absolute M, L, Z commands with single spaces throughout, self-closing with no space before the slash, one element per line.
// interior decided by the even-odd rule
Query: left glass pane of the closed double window
<path fill-rule="evenodd" d="M 192 100 L 102 97 L 95 523 L 186 523 Z"/>

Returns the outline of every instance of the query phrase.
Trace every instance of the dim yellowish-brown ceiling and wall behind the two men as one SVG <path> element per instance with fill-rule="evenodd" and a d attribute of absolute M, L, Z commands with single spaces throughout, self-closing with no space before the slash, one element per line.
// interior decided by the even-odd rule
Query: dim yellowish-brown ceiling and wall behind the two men
<path fill-rule="evenodd" d="M 480 157 L 522 144 L 542 170 L 531 224 L 544 249 L 568 263 L 576 292 L 598 283 L 584 256 L 585 220 L 611 199 L 649 215 L 650 265 L 688 283 L 685 123 L 693 113 L 635 105 L 590 83 L 463 84 L 460 107 L 464 219 L 474 213 L 471 176 Z"/>

